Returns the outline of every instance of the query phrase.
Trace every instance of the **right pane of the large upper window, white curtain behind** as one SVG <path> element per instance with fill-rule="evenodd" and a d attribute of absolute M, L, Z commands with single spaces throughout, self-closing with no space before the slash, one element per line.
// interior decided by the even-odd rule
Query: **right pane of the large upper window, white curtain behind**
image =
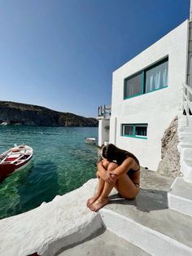
<path fill-rule="evenodd" d="M 168 60 L 146 71 L 146 92 L 168 86 Z"/>

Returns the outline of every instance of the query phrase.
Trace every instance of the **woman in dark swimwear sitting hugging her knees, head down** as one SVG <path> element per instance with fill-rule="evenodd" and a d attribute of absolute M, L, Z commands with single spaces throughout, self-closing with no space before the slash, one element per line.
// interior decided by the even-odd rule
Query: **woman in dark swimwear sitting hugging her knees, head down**
<path fill-rule="evenodd" d="M 139 192 L 140 165 L 131 152 L 108 144 L 103 148 L 103 160 L 98 162 L 98 190 L 89 198 L 87 206 L 97 211 L 107 205 L 113 187 L 121 196 L 133 199 Z"/>

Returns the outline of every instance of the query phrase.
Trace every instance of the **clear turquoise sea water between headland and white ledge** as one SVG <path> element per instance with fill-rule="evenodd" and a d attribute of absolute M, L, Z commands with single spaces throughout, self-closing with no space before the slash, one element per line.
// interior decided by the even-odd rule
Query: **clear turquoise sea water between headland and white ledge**
<path fill-rule="evenodd" d="M 24 143 L 34 150 L 32 165 L 0 183 L 0 218 L 20 214 L 81 187 L 95 177 L 97 127 L 0 126 L 0 152 Z"/>

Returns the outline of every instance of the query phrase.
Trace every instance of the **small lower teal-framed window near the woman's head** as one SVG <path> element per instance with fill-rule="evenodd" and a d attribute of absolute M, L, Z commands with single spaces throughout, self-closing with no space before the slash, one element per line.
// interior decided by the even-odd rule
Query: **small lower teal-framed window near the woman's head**
<path fill-rule="evenodd" d="M 123 124 L 122 136 L 134 137 L 140 139 L 146 138 L 147 124 Z"/>

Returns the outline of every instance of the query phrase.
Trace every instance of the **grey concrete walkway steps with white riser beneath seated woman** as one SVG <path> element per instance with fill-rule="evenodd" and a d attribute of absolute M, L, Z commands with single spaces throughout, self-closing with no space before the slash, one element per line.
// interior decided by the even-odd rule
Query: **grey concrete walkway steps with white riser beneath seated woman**
<path fill-rule="evenodd" d="M 168 209 L 173 179 L 142 170 L 141 190 L 125 200 L 113 189 L 109 204 L 99 210 L 106 231 L 59 255 L 192 255 L 192 218 Z"/>

